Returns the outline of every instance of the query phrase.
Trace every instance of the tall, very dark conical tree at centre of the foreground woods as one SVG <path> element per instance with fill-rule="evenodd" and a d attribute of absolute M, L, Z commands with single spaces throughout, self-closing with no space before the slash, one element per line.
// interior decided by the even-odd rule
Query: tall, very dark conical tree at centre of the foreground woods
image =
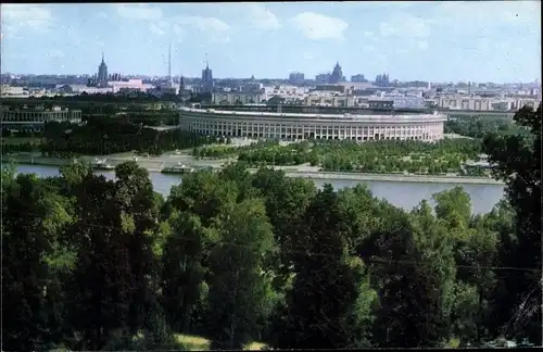
<path fill-rule="evenodd" d="M 277 327 L 279 348 L 321 349 L 356 345 L 374 293 L 362 285 L 363 265 L 349 256 L 339 198 L 326 185 L 311 202 L 294 239 L 294 282 L 287 294 L 287 314 Z M 361 296 L 364 296 L 361 299 Z M 358 306 L 357 306 L 358 305 Z M 355 314 L 356 315 L 356 314 Z M 355 324 L 353 324 L 355 323 Z M 282 326 L 281 326 L 282 325 Z"/>

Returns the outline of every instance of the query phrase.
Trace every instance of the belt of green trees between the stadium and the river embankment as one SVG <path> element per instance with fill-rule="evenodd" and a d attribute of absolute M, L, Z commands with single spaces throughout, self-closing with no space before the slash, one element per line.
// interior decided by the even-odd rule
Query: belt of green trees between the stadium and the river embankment
<path fill-rule="evenodd" d="M 299 165 L 308 163 L 327 172 L 364 172 L 375 174 L 460 173 L 462 164 L 475 159 L 480 142 L 469 139 L 422 141 L 304 141 L 279 146 L 261 142 L 239 149 L 239 160 L 250 165 Z"/>

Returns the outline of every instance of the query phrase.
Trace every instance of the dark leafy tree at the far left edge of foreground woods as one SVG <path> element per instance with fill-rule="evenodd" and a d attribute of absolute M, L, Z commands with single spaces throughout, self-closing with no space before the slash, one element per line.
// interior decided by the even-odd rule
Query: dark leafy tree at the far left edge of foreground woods
<path fill-rule="evenodd" d="M 64 338 L 59 275 L 73 257 L 59 246 L 71 216 L 47 181 L 12 177 L 2 171 L 2 349 L 50 349 Z"/>

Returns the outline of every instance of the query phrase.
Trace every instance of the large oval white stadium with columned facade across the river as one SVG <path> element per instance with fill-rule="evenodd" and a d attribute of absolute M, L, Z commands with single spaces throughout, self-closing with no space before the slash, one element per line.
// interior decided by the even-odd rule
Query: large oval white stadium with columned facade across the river
<path fill-rule="evenodd" d="M 280 140 L 434 141 L 443 138 L 446 121 L 446 115 L 437 112 L 367 111 L 361 114 L 357 111 L 355 114 L 319 114 L 187 106 L 178 110 L 180 128 L 185 130 L 206 136 Z"/>

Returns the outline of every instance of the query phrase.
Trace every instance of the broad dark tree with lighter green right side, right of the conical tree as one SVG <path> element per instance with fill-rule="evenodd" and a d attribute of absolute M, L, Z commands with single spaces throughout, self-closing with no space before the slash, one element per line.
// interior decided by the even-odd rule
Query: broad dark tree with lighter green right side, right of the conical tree
<path fill-rule="evenodd" d="M 454 280 L 450 242 L 426 202 L 412 214 L 389 208 L 384 226 L 361 251 L 379 292 L 376 344 L 433 347 L 449 338 Z"/>

